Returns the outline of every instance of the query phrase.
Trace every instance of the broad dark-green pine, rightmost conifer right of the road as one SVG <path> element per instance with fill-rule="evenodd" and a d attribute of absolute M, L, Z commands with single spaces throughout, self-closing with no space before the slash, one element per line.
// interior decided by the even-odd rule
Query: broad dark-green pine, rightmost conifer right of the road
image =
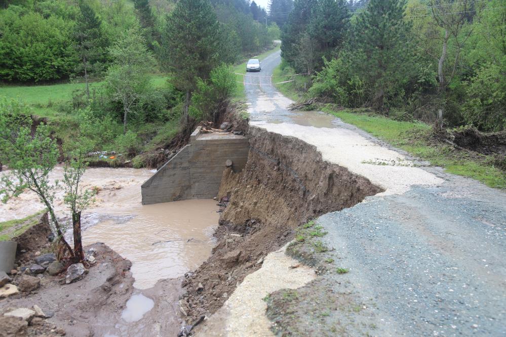
<path fill-rule="evenodd" d="M 412 52 L 407 34 L 411 25 L 404 20 L 405 5 L 406 0 L 371 0 L 354 27 L 353 68 L 369 83 L 370 103 L 377 109 L 409 77 Z"/>

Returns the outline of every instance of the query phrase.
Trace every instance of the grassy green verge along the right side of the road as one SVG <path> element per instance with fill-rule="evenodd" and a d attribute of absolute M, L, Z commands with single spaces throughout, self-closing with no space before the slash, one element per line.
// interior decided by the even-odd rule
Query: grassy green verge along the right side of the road
<path fill-rule="evenodd" d="M 275 73 L 282 73 L 277 67 Z M 287 86 L 288 84 L 288 86 Z M 300 100 L 300 82 L 278 85 L 285 96 Z M 459 151 L 448 144 L 435 141 L 431 137 L 431 126 L 418 121 L 398 121 L 378 115 L 366 109 L 339 109 L 326 105 L 322 111 L 341 118 L 344 122 L 354 124 L 393 146 L 410 154 L 429 161 L 435 166 L 445 168 L 451 174 L 476 179 L 487 186 L 505 189 L 506 175 L 496 167 L 491 156 Z"/>

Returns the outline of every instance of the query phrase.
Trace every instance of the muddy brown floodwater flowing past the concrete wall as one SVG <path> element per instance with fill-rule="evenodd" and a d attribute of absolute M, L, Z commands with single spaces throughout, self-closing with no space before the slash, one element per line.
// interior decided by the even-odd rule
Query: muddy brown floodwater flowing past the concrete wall
<path fill-rule="evenodd" d="M 62 167 L 56 167 L 51 179 L 59 179 L 62 173 Z M 129 259 L 134 286 L 139 289 L 181 276 L 205 261 L 214 246 L 212 233 L 219 218 L 212 199 L 142 205 L 140 186 L 153 173 L 89 168 L 83 178 L 84 188 L 98 190 L 95 203 L 83 212 L 83 243 L 104 242 Z M 68 211 L 61 199 L 57 195 L 55 207 L 58 217 L 64 218 Z M 25 193 L 0 205 L 0 221 L 23 218 L 40 209 L 37 197 Z"/>

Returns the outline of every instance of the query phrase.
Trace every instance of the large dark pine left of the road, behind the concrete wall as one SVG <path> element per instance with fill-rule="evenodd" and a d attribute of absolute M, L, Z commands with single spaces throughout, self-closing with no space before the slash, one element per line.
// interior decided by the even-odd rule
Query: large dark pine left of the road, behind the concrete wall
<path fill-rule="evenodd" d="M 185 122 L 197 78 L 208 78 L 221 61 L 221 36 L 220 24 L 208 0 L 180 0 L 167 18 L 163 63 L 176 86 L 186 92 Z"/>

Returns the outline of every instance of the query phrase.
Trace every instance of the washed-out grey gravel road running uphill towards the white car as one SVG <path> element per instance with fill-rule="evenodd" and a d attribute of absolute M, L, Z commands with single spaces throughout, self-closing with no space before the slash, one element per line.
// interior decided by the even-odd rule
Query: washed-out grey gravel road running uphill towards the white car
<path fill-rule="evenodd" d="M 291 101 L 268 85 L 280 53 L 261 61 L 260 73 L 245 76 L 261 83 L 246 85 L 252 124 L 312 143 L 324 159 L 385 189 L 317 219 L 328 232 L 321 240 L 334 248 L 321 260 L 334 261 L 329 271 L 348 272 L 327 272 L 300 288 L 295 319 L 279 325 L 307 335 L 506 335 L 506 193 L 413 165 L 406 153 L 340 120 L 329 128 L 300 123 L 286 109 Z M 406 164 L 364 162 L 374 157 Z M 348 305 L 315 309 L 329 293 L 335 303 L 349 298 Z"/>

